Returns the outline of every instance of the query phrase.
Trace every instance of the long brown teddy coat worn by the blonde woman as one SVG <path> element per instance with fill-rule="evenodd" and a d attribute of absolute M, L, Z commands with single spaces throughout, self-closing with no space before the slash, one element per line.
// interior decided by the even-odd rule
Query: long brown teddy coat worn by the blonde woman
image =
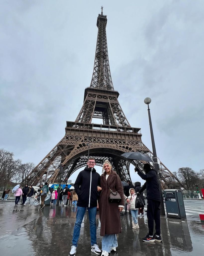
<path fill-rule="evenodd" d="M 100 235 L 105 234 L 118 234 L 122 232 L 121 222 L 120 222 L 120 211 L 118 205 L 124 205 L 124 195 L 123 188 L 121 184 L 120 177 L 116 172 L 111 170 L 110 175 L 106 180 L 106 172 L 101 175 L 101 193 L 98 200 L 99 204 L 99 217 L 100 217 Z M 119 203 L 110 203 L 108 197 L 110 194 L 110 189 L 118 193 L 121 196 L 121 201 Z"/>

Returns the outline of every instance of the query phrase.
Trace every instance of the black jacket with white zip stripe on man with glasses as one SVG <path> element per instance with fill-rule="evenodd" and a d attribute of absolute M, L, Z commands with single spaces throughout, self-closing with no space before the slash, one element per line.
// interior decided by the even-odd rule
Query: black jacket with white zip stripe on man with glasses
<path fill-rule="evenodd" d="M 97 186 L 100 186 L 100 175 L 96 169 L 86 166 L 74 183 L 74 189 L 78 195 L 77 206 L 96 207 L 99 197 Z"/>

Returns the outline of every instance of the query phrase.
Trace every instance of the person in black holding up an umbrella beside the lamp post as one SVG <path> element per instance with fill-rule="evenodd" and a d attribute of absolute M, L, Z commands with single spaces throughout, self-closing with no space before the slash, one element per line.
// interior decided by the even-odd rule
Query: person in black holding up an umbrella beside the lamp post
<path fill-rule="evenodd" d="M 147 190 L 147 218 L 148 218 L 148 228 L 149 232 L 142 240 L 145 242 L 161 242 L 160 236 L 160 203 L 161 195 L 159 190 L 159 181 L 157 178 L 157 173 L 154 169 L 150 168 L 149 164 L 144 164 L 144 173 L 142 173 L 138 168 L 135 168 L 137 174 L 144 180 L 146 180 L 143 187 L 139 190 L 141 194 L 145 189 Z M 154 231 L 154 221 L 156 233 L 153 236 Z"/>

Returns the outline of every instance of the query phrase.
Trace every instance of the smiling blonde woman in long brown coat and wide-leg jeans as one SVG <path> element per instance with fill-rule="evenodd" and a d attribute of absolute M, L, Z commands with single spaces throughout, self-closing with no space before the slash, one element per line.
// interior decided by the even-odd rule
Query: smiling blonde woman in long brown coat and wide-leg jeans
<path fill-rule="evenodd" d="M 103 236 L 101 256 L 108 256 L 110 251 L 116 251 L 116 247 L 118 247 L 116 234 L 122 232 L 120 211 L 124 208 L 124 194 L 120 177 L 113 171 L 108 160 L 104 162 L 102 172 L 101 186 L 97 188 L 98 191 L 101 191 L 98 200 L 101 223 L 100 235 Z M 121 197 L 119 203 L 109 202 L 110 190 L 119 193 Z"/>

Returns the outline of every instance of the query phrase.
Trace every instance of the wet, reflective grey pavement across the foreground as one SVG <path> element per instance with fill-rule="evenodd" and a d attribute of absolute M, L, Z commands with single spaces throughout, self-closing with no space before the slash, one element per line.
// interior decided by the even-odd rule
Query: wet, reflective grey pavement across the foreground
<path fill-rule="evenodd" d="M 76 209 L 45 206 L 15 206 L 14 202 L 0 202 L 0 255 L 68 255 L 71 248 Z M 97 243 L 101 248 L 100 220 L 97 212 Z M 121 216 L 122 233 L 118 236 L 117 252 L 111 256 L 203 255 L 204 224 L 198 220 L 161 218 L 163 242 L 146 243 L 141 240 L 147 233 L 147 219 L 138 218 L 140 229 L 132 229 L 129 214 Z M 87 212 L 82 223 L 76 256 L 96 255 L 91 252 Z"/>

